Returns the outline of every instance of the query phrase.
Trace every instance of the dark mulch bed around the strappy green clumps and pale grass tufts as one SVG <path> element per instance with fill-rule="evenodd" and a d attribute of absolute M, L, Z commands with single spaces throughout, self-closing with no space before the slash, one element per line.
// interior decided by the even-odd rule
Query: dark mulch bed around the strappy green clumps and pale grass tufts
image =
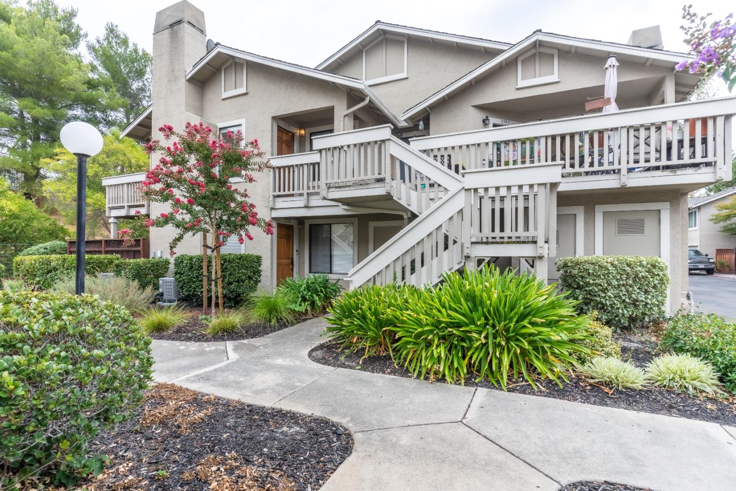
<path fill-rule="evenodd" d="M 657 356 L 655 352 L 656 342 L 648 336 L 648 333 L 628 331 L 617 333 L 615 336 L 617 341 L 621 343 L 622 358 L 630 359 L 637 366 L 643 367 L 651 358 Z M 329 367 L 349 368 L 411 378 L 411 373 L 408 370 L 394 366 L 390 356 L 372 356 L 363 361 L 361 361 L 361 356 L 361 353 L 345 355 L 339 345 L 329 342 L 314 347 L 309 353 L 309 358 L 312 361 Z M 655 388 L 616 390 L 609 394 L 600 386 L 586 381 L 581 375 L 568 375 L 568 378 L 570 382 L 562 381 L 562 388 L 553 381 L 539 380 L 535 381 L 539 388 L 535 390 L 528 382 L 519 379 L 512 381 L 507 389 L 509 392 L 570 400 L 595 406 L 631 409 L 632 411 L 685 417 L 691 420 L 736 425 L 736 398 L 730 400 L 698 398 L 682 392 Z M 443 380 L 440 379 L 439 381 L 442 382 Z M 475 379 L 468 378 L 465 385 L 498 389 L 487 379 L 475 382 Z"/>

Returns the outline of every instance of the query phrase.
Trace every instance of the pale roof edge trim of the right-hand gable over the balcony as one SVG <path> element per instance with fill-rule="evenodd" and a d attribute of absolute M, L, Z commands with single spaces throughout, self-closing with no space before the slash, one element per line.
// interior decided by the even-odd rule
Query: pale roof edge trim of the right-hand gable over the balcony
<path fill-rule="evenodd" d="M 609 54 L 618 54 L 626 57 L 637 57 L 642 59 L 643 63 L 647 65 L 655 64 L 674 66 L 682 60 L 690 58 L 689 55 L 684 53 L 669 52 L 662 49 L 642 48 L 640 46 L 609 43 L 601 40 L 573 38 L 571 36 L 554 34 L 553 32 L 535 31 L 523 40 L 514 44 L 514 46 L 506 49 L 506 51 L 498 54 L 498 56 L 486 61 L 486 63 L 463 75 L 458 80 L 451 82 L 449 85 L 445 86 L 445 88 L 435 92 L 419 104 L 410 107 L 400 116 L 400 118 L 402 120 L 411 118 L 411 116 L 425 111 L 426 108 L 442 102 L 442 100 L 447 99 L 451 94 L 463 90 L 468 85 L 474 84 L 476 80 L 485 77 L 491 71 L 494 71 L 499 67 L 506 66 L 506 63 L 509 60 L 514 60 L 517 55 L 523 54 L 527 49 L 530 49 L 531 46 L 534 46 L 537 43 L 545 43 L 545 45 L 551 46 L 570 46 L 572 52 L 585 54 L 604 54 L 605 56 Z"/>

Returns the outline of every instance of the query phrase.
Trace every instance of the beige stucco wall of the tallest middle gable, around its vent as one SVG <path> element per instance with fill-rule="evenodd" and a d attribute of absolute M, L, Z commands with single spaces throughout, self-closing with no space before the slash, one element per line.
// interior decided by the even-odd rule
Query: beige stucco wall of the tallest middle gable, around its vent
<path fill-rule="evenodd" d="M 480 47 L 431 43 L 424 38 L 410 38 L 406 51 L 406 79 L 371 85 L 372 91 L 397 115 L 493 57 Z M 362 79 L 363 52 L 344 60 L 336 72 Z"/>

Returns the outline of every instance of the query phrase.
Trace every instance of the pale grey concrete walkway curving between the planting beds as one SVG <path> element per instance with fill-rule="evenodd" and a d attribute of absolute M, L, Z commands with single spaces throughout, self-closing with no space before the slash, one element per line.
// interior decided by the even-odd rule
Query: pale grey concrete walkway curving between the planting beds
<path fill-rule="evenodd" d="M 324 325 L 155 341 L 155 378 L 345 425 L 355 448 L 323 491 L 553 491 L 593 479 L 736 490 L 736 428 L 325 367 L 307 356 Z"/>

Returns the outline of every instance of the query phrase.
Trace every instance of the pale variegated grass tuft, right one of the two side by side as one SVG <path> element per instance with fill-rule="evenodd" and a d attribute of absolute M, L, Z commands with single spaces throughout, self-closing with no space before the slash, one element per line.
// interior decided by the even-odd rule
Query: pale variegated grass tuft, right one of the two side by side
<path fill-rule="evenodd" d="M 654 386 L 691 394 L 721 392 L 712 364 L 688 354 L 654 358 L 646 367 L 646 378 Z"/>

